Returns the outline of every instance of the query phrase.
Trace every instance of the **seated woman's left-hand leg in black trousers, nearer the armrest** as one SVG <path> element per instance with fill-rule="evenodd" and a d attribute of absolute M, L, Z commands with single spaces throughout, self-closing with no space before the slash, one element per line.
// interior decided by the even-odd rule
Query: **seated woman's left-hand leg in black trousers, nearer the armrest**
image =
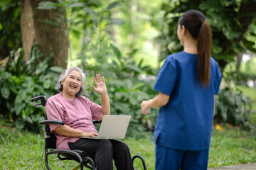
<path fill-rule="evenodd" d="M 69 142 L 70 149 L 79 149 L 87 152 L 95 159 L 97 170 L 113 169 L 113 149 L 109 140 L 79 139 Z"/>

